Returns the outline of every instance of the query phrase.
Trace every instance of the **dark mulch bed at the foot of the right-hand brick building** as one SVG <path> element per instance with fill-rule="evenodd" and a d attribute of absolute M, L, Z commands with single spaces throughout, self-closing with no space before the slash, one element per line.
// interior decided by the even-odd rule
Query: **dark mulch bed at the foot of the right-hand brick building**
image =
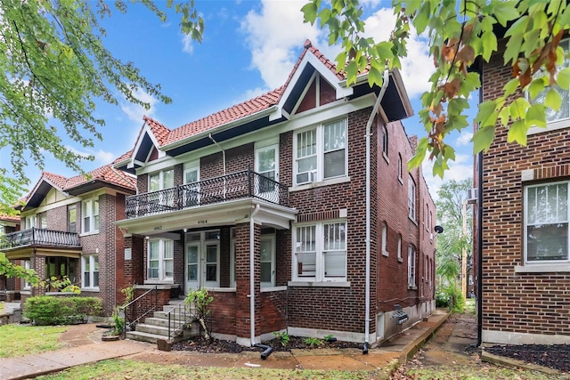
<path fill-rule="evenodd" d="M 522 360 L 525 363 L 570 372 L 570 345 L 568 344 L 520 344 L 485 347 L 493 355 Z"/>

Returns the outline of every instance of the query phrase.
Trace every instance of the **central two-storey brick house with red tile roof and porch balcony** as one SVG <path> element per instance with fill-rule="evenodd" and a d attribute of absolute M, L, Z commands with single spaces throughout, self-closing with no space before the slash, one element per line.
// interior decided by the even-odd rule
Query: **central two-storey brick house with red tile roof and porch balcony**
<path fill-rule="evenodd" d="M 395 304 L 406 327 L 430 314 L 436 209 L 406 170 L 397 71 L 373 112 L 379 93 L 366 74 L 346 85 L 307 41 L 272 92 L 173 130 L 144 117 L 115 162 L 139 191 L 117 222 L 127 282 L 207 287 L 214 332 L 245 345 L 281 330 L 374 343 L 401 331 Z"/>

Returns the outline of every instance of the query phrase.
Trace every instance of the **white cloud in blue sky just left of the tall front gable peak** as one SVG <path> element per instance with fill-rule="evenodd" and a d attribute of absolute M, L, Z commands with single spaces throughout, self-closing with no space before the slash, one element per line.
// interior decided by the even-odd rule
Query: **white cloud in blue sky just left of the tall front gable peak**
<path fill-rule="evenodd" d="M 285 83 L 307 38 L 331 58 L 324 33 L 303 22 L 304 4 L 305 0 L 262 0 L 259 12 L 251 10 L 241 21 L 240 30 L 251 50 L 251 69 L 259 70 L 267 89 Z"/>

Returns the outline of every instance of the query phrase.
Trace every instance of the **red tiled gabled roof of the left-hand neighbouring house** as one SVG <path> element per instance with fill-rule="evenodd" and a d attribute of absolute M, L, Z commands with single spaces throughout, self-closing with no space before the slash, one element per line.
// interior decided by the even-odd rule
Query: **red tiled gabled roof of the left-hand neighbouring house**
<path fill-rule="evenodd" d="M 89 191 L 111 188 L 127 193 L 134 193 L 136 181 L 129 174 L 122 173 L 111 165 L 101 166 L 87 174 L 79 174 L 66 178 L 59 174 L 42 172 L 36 186 L 23 198 L 21 211 L 39 206 L 47 193 L 56 189 L 63 194 L 80 195 Z M 17 206 L 20 208 L 20 206 Z"/>

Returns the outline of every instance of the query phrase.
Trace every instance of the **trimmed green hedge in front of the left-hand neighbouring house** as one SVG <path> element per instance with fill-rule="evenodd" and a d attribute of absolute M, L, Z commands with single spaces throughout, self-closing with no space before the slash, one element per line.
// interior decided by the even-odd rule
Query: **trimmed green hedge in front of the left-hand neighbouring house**
<path fill-rule="evenodd" d="M 24 306 L 24 317 L 36 325 L 67 325 L 85 323 L 87 316 L 99 315 L 102 302 L 96 297 L 29 297 Z"/>

